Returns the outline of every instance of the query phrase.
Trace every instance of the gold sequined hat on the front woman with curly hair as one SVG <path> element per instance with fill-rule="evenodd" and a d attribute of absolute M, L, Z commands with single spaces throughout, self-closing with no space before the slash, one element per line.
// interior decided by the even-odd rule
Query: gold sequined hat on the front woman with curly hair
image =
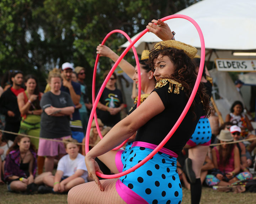
<path fill-rule="evenodd" d="M 191 59 L 193 59 L 197 53 L 196 47 L 193 47 L 191 45 L 188 45 L 184 42 L 180 42 L 177 40 L 165 40 L 165 41 L 158 42 L 154 45 L 154 49 L 161 49 L 160 45 L 165 47 L 173 47 L 173 48 L 176 48 L 177 50 L 183 50 Z"/>

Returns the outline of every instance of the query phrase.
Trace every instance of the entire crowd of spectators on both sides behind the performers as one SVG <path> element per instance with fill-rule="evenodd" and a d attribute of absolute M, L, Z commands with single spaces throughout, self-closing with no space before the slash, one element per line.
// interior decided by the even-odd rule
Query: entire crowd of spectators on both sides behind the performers
<path fill-rule="evenodd" d="M 107 74 L 108 71 L 103 78 Z M 60 69 L 50 71 L 42 93 L 35 76 L 23 76 L 20 70 L 5 73 L 0 86 L 0 129 L 17 133 L 0 131 L 0 184 L 6 183 L 8 191 L 64 193 L 90 181 L 84 163 L 84 146 L 79 144 L 85 143 L 92 109 L 85 77 L 85 68 L 74 68 L 66 62 Z M 126 107 L 116 81 L 117 75 L 113 73 L 97 106 L 103 136 L 121 120 L 120 112 Z M 209 121 L 211 143 L 221 145 L 209 147 L 201 169 L 201 183 L 229 186 L 252 179 L 254 172 L 250 170 L 255 168 L 252 155 L 255 155 L 256 140 L 253 139 L 256 136 L 244 114 L 243 104 L 234 102 L 222 126 L 214 112 Z M 244 138 L 252 140 L 250 143 L 226 144 Z M 90 148 L 99 140 L 93 120 Z M 190 189 L 195 174 L 185 165 L 187 157 L 188 149 L 184 148 L 178 157 L 177 170 L 184 186 Z M 100 160 L 97 161 L 103 172 L 111 173 Z M 54 165 L 57 166 L 55 174 Z"/>

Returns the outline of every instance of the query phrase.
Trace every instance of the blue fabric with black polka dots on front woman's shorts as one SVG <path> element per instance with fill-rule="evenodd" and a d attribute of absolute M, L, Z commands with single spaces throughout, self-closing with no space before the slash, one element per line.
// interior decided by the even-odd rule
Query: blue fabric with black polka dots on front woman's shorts
<path fill-rule="evenodd" d="M 138 164 L 152 151 L 150 148 L 132 147 L 123 171 Z M 175 157 L 158 152 L 143 166 L 122 176 L 120 181 L 150 204 L 181 203 L 182 188 L 176 170 L 176 160 Z"/>

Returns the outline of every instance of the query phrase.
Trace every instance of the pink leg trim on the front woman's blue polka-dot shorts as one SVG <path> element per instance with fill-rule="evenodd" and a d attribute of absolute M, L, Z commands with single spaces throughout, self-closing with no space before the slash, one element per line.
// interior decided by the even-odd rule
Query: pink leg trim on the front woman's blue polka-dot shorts
<path fill-rule="evenodd" d="M 116 182 L 116 190 L 119 196 L 127 204 L 148 204 L 146 200 L 124 185 L 119 179 Z"/>

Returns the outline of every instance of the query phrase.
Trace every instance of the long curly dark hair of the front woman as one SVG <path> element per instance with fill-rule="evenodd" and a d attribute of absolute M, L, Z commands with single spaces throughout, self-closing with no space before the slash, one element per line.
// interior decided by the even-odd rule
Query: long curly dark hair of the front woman
<path fill-rule="evenodd" d="M 184 87 L 185 94 L 187 99 L 190 97 L 194 84 L 196 83 L 197 73 L 194 63 L 192 62 L 191 58 L 184 53 L 183 50 L 177 50 L 173 47 L 165 47 L 160 45 L 159 49 L 154 49 L 150 51 L 149 54 L 149 63 L 150 67 L 154 68 L 155 60 L 159 58 L 159 56 L 168 56 L 170 60 L 174 63 L 175 71 L 173 74 L 166 76 L 164 78 L 173 79 L 182 84 Z M 206 112 L 206 116 L 209 117 L 212 109 L 209 105 L 209 96 L 206 92 L 206 87 L 200 83 L 197 93 L 201 97 L 203 102 L 203 107 Z M 194 109 L 195 102 L 193 101 L 191 108 Z"/>

